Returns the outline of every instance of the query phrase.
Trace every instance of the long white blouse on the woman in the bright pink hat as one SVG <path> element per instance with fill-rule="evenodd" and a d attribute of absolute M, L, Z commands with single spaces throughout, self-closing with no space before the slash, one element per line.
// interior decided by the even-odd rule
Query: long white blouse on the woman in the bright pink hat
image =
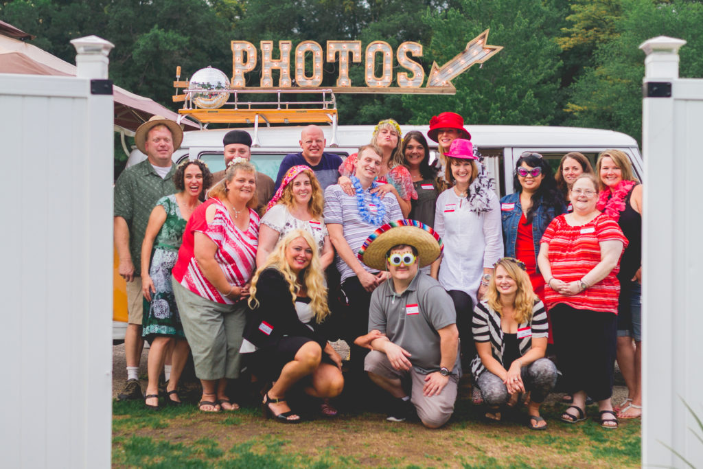
<path fill-rule="evenodd" d="M 444 243 L 439 283 L 444 290 L 463 291 L 474 304 L 484 267 L 492 268 L 503 257 L 501 208 L 494 191 L 489 206 L 488 212 L 471 212 L 453 188 L 439 194 L 435 205 L 434 230 Z"/>

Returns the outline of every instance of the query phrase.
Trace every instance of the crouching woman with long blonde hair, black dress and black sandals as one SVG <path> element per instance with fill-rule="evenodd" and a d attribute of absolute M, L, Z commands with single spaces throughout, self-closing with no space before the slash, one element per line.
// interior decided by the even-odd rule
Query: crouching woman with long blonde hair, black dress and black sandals
<path fill-rule="evenodd" d="M 296 383 L 318 398 L 342 392 L 342 358 L 316 332 L 330 314 L 318 250 L 309 233 L 290 231 L 252 279 L 241 353 L 252 373 L 271 380 L 264 412 L 281 423 L 298 423 L 285 394 Z"/>

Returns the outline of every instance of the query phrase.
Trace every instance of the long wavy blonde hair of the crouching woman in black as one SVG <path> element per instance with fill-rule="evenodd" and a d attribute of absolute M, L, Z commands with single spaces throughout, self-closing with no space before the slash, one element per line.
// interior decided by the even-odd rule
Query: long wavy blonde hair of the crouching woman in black
<path fill-rule="evenodd" d="M 285 260 L 285 252 L 288 250 L 288 246 L 297 238 L 303 238 L 312 250 L 312 258 L 310 259 L 309 266 L 303 269 L 298 276 L 292 271 L 290 265 L 288 265 L 288 262 Z M 310 307 L 315 314 L 315 320 L 318 324 L 330 314 L 330 309 L 327 306 L 327 288 L 325 287 L 323 271 L 320 266 L 320 255 L 318 255 L 315 241 L 310 233 L 303 230 L 292 230 L 283 236 L 282 240 L 278 241 L 276 248 L 273 249 L 273 252 L 271 252 L 266 259 L 264 265 L 257 269 L 254 278 L 252 278 L 252 286 L 249 289 L 249 306 L 252 309 L 259 307 L 259 300 L 257 300 L 259 275 L 264 269 L 269 268 L 276 269 L 283 274 L 283 278 L 285 278 L 285 281 L 288 283 L 290 299 L 293 303 L 295 303 L 295 297 L 297 297 L 297 293 L 300 289 L 297 285 L 297 280 L 299 276 L 302 276 L 302 283 L 305 285 L 305 288 L 307 288 L 307 296 L 310 298 Z"/>

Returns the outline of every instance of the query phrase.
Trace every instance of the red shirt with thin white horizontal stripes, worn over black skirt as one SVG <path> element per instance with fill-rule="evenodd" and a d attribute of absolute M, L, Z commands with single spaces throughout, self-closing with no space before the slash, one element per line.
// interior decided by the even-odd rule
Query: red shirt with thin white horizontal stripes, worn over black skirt
<path fill-rule="evenodd" d="M 544 231 L 541 242 L 549 245 L 552 276 L 568 283 L 581 280 L 600 262 L 599 243 L 610 240 L 622 241 L 623 250 L 628 243 L 617 222 L 607 215 L 599 214 L 587 224 L 580 226 L 569 225 L 565 215 L 560 215 L 553 219 Z M 617 280 L 619 270 L 618 259 L 617 266 L 602 281 L 576 295 L 561 295 L 547 285 L 545 297 L 548 307 L 552 308 L 557 303 L 565 303 L 576 309 L 617 314 L 620 293 L 620 283 Z"/>

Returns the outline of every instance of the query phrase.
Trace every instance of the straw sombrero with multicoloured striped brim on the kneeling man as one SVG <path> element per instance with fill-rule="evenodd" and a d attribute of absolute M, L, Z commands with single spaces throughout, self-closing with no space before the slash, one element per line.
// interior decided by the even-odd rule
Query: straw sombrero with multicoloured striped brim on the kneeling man
<path fill-rule="evenodd" d="M 444 249 L 436 231 L 417 220 L 391 221 L 374 231 L 361 245 L 359 260 L 371 269 L 386 270 L 386 253 L 399 244 L 418 250 L 420 267 L 428 266 Z"/>

